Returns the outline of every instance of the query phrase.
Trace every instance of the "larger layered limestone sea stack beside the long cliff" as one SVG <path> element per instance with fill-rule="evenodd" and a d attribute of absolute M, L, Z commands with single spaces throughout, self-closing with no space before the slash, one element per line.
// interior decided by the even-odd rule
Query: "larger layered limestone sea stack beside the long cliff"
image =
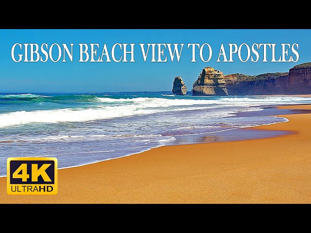
<path fill-rule="evenodd" d="M 213 67 L 205 67 L 193 83 L 193 96 L 227 96 L 223 72 Z"/>

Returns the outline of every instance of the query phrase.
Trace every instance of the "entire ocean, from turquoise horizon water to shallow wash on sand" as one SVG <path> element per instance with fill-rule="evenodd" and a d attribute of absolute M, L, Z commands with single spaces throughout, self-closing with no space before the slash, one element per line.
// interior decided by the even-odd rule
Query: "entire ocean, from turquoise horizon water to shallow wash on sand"
<path fill-rule="evenodd" d="M 284 134 L 245 127 L 287 121 L 244 116 L 265 106 L 310 104 L 311 98 L 198 97 L 171 92 L 0 93 L 0 177 L 9 157 L 56 157 L 58 168 L 82 166 L 152 148 Z"/>

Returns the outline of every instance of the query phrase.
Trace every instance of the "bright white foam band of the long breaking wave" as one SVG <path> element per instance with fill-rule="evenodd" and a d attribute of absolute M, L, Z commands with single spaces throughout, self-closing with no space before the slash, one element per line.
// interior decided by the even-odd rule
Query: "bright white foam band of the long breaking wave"
<path fill-rule="evenodd" d="M 27 94 L 28 95 L 28 94 Z M 32 94 L 30 94 L 32 95 Z M 181 100 L 164 98 L 134 98 L 134 99 L 112 99 L 97 98 L 100 102 L 111 102 L 111 104 L 98 104 L 98 108 L 76 108 L 37 111 L 17 111 L 0 114 L 0 127 L 7 127 L 29 123 L 57 123 L 57 122 L 82 122 L 101 120 L 108 118 L 154 114 L 160 112 L 174 112 L 183 110 L 213 109 L 219 106 L 232 106 L 235 109 L 247 107 L 248 111 L 256 111 L 250 106 L 261 106 L 268 104 L 295 104 L 300 100 L 311 100 L 311 98 L 298 97 L 270 97 L 270 98 L 220 98 L 216 100 Z M 200 105 L 200 106 L 198 106 Z M 232 114 L 232 111 L 215 112 L 208 111 L 208 117 L 219 117 Z"/>

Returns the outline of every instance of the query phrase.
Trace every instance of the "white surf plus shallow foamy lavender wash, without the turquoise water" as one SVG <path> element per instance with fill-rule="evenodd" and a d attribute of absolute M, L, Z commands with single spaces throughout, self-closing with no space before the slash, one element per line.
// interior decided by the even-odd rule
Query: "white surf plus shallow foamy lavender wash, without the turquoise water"
<path fill-rule="evenodd" d="M 311 102 L 311 98 L 298 97 L 204 97 L 196 100 L 196 97 L 188 96 L 183 100 L 173 99 L 127 99 L 126 96 L 122 99 L 112 99 L 102 96 L 96 98 L 95 102 L 91 103 L 94 107 L 89 109 L 81 107 L 0 114 L 0 127 L 35 122 L 79 122 L 115 118 L 96 124 L 40 124 L 25 129 L 0 129 L 1 141 L 6 141 L 0 143 L 0 176 L 6 175 L 6 159 L 16 154 L 57 157 L 60 168 L 81 166 L 167 145 L 168 141 L 178 139 L 178 135 L 223 132 L 287 121 L 286 118 L 272 116 L 226 116 L 240 111 L 261 110 L 261 106 L 264 105 Z M 89 105 L 87 102 L 87 105 L 78 106 Z M 183 110 L 189 111 L 178 112 Z M 151 115 L 154 113 L 156 115 Z M 133 117 L 121 118 L 123 116 Z"/>

